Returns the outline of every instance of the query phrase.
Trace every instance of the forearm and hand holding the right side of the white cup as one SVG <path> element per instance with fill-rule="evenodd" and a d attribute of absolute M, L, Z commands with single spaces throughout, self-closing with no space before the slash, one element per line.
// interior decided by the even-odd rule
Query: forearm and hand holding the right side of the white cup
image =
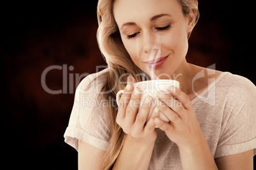
<path fill-rule="evenodd" d="M 155 124 L 178 145 L 182 168 L 217 169 L 188 96 L 175 87 L 170 87 L 169 93 L 158 94 L 157 107 L 170 122 L 157 117 Z"/>

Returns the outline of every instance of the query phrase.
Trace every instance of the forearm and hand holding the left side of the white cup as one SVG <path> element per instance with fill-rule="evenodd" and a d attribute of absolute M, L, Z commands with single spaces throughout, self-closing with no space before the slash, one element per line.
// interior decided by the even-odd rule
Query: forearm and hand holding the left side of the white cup
<path fill-rule="evenodd" d="M 131 77 L 128 77 L 128 82 L 131 82 Z M 128 85 L 124 89 L 117 114 L 117 124 L 127 134 L 127 138 L 113 169 L 148 169 L 157 138 L 153 117 L 159 116 L 160 112 L 153 112 L 146 122 L 152 100 L 147 98 L 138 112 L 139 105 L 135 102 L 140 100 L 141 95 L 133 90 L 132 84 Z"/>

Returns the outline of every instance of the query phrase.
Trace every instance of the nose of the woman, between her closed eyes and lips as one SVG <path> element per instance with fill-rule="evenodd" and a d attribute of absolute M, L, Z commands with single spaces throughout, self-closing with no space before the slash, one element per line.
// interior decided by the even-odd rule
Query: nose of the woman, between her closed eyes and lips
<path fill-rule="evenodd" d="M 146 54 L 155 53 L 160 49 L 159 38 L 153 32 L 146 32 L 143 35 L 143 52 Z"/>

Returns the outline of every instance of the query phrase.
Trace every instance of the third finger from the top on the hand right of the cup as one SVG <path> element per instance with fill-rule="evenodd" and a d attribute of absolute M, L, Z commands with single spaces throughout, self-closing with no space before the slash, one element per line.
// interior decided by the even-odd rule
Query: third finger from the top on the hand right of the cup
<path fill-rule="evenodd" d="M 159 108 L 162 114 L 164 114 L 167 117 L 167 119 L 169 119 L 169 121 L 171 121 L 174 124 L 181 121 L 179 115 L 173 110 L 171 110 L 171 108 L 169 108 L 166 105 L 166 103 L 160 101 L 159 98 L 157 98 L 156 100 L 157 100 L 156 102 L 157 108 Z"/>

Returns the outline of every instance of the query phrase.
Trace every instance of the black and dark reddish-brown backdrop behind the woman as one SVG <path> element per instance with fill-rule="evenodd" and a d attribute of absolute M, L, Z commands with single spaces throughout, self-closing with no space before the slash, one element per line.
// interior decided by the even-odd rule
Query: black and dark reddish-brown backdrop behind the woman
<path fill-rule="evenodd" d="M 255 18 L 253 4 L 245 2 L 199 1 L 201 16 L 189 40 L 188 62 L 215 63 L 217 70 L 256 83 Z M 106 65 L 97 47 L 96 6 L 97 1 L 1 5 L 1 138 L 8 169 L 77 169 L 77 152 L 64 143 L 63 134 L 76 81 Z M 41 86 L 43 70 L 52 65 L 73 67 L 66 94 L 52 95 Z M 48 88 L 63 89 L 63 71 L 48 72 Z"/>

